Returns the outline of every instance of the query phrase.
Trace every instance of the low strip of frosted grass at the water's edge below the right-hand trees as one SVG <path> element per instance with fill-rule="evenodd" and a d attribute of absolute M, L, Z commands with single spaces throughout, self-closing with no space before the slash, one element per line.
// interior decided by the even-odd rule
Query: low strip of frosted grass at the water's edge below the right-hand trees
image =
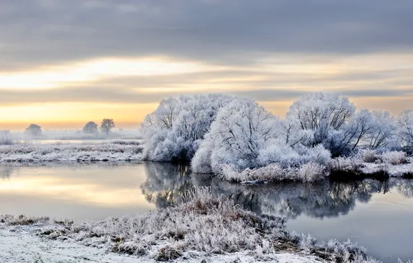
<path fill-rule="evenodd" d="M 377 153 L 364 150 L 355 156 L 332 158 L 326 165 L 315 162 L 295 166 L 270 163 L 264 167 L 236 170 L 232 165 L 222 165 L 218 174 L 227 181 L 263 183 L 276 181 L 320 181 L 330 179 L 364 179 L 404 176 L 413 177 L 413 157 L 405 152 Z"/>

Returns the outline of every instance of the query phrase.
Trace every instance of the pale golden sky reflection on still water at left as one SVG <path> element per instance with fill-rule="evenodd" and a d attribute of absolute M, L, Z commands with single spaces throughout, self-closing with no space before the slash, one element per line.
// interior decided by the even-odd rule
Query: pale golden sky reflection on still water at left
<path fill-rule="evenodd" d="M 85 221 L 155 208 L 141 194 L 139 164 L 0 165 L 1 174 L 1 214 Z"/>

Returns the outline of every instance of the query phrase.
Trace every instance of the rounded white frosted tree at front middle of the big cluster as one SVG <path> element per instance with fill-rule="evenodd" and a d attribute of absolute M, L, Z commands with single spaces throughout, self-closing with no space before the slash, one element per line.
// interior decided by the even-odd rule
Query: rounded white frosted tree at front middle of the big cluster
<path fill-rule="evenodd" d="M 221 165 L 256 167 L 264 147 L 279 134 L 280 120 L 253 100 L 238 99 L 222 108 L 194 156 L 195 172 L 219 172 Z"/>

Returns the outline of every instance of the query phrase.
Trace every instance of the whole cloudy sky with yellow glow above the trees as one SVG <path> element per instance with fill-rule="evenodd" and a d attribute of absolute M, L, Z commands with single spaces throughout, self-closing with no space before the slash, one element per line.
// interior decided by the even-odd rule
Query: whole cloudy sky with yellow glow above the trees
<path fill-rule="evenodd" d="M 413 108 L 410 0 L 0 0 L 0 129 L 138 127 L 159 100 Z"/>

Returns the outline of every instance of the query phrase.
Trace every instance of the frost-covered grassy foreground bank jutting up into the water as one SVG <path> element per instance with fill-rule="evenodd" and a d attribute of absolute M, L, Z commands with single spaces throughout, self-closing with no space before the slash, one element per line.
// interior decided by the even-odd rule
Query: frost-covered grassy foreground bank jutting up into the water
<path fill-rule="evenodd" d="M 0 226 L 0 242 L 4 244 L 0 246 L 1 262 L 21 257 L 30 262 L 36 256 L 67 260 L 71 253 L 76 262 L 89 258 L 110 262 L 110 257 L 116 256 L 113 253 L 123 255 L 115 262 L 130 262 L 132 258 L 141 262 L 225 262 L 237 257 L 237 262 L 378 262 L 351 242 L 317 242 L 310 235 L 289 233 L 283 219 L 258 216 L 234 206 L 229 199 L 212 197 L 206 189 L 190 192 L 186 202 L 175 207 L 134 218 L 76 225 L 1 216 Z M 35 239 L 42 242 L 33 242 Z M 14 250 L 18 242 L 21 253 Z"/>

